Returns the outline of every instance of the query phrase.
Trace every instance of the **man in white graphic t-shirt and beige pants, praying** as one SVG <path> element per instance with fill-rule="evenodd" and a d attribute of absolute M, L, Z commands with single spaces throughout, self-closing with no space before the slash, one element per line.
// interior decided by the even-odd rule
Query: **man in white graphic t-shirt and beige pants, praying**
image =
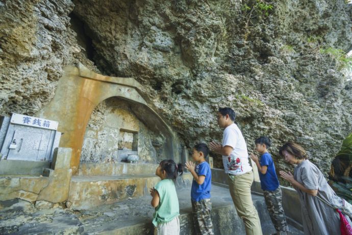
<path fill-rule="evenodd" d="M 250 186 L 254 176 L 249 165 L 248 152 L 242 132 L 235 122 L 236 113 L 231 108 L 219 108 L 217 122 L 224 128 L 222 144 L 211 142 L 212 151 L 222 155 L 225 173 L 229 175 L 230 194 L 246 234 L 261 235 L 262 228 L 256 207 L 253 205 Z"/>

